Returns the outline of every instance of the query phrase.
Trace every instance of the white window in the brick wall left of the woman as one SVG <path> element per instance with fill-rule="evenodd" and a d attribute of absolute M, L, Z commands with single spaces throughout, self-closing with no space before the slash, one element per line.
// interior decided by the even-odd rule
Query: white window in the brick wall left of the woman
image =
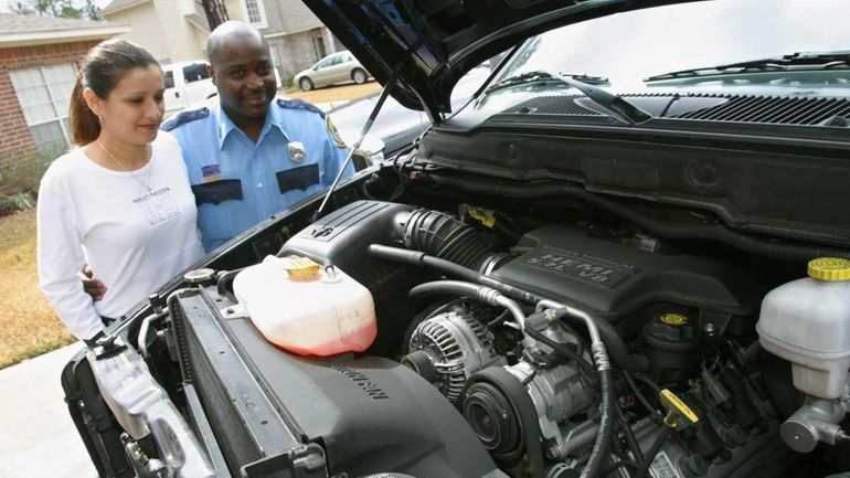
<path fill-rule="evenodd" d="M 15 70 L 9 76 L 35 147 L 45 155 L 61 152 L 71 141 L 67 116 L 76 65 Z"/>

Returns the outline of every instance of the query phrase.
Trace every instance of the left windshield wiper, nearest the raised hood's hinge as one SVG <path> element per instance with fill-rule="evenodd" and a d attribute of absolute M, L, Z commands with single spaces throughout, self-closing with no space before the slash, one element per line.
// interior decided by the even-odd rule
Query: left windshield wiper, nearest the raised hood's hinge
<path fill-rule="evenodd" d="M 638 108 L 637 106 L 623 99 L 620 96 L 606 92 L 603 88 L 596 87 L 588 83 L 578 81 L 576 76 L 583 75 L 565 75 L 555 72 L 548 72 L 545 70 L 535 70 L 533 72 L 523 73 L 521 75 L 511 76 L 510 78 L 502 79 L 487 88 L 485 94 L 490 91 L 503 88 L 510 85 L 517 85 L 521 83 L 541 82 L 541 81 L 555 81 L 563 83 L 567 86 L 572 86 L 580 92 L 584 93 L 587 98 L 593 103 L 601 106 L 606 111 L 610 113 L 613 118 L 619 119 L 627 125 L 636 125 L 644 123 L 647 119 L 651 119 L 652 115 Z M 594 76 L 593 78 L 601 78 Z M 607 79 L 605 79 L 607 83 Z"/>

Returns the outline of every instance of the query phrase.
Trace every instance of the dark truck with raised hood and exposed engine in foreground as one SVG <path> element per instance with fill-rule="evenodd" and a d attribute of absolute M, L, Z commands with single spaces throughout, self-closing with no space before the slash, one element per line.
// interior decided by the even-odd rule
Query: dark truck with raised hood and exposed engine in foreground
<path fill-rule="evenodd" d="M 68 363 L 102 476 L 848 476 L 844 0 L 306 3 L 431 125 Z"/>

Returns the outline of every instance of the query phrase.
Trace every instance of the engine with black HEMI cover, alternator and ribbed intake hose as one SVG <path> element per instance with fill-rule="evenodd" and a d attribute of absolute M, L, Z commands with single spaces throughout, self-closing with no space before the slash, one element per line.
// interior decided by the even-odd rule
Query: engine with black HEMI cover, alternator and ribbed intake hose
<path fill-rule="evenodd" d="M 782 466 L 755 453 L 783 445 L 771 378 L 754 362 L 764 288 L 744 268 L 575 224 L 542 224 L 500 246 L 489 212 L 463 212 L 478 227 L 444 212 L 358 202 L 301 231 L 280 255 L 333 264 L 365 285 L 383 331 L 371 351 L 395 353 L 438 390 L 512 476 L 572 476 L 606 419 L 606 475 L 725 477 Z M 406 270 L 397 287 L 423 266 L 431 276 L 407 284 L 413 306 L 400 307 L 387 273 Z M 446 277 L 466 288 L 423 284 Z M 607 412 L 592 338 L 559 310 L 599 323 L 616 370 Z"/>

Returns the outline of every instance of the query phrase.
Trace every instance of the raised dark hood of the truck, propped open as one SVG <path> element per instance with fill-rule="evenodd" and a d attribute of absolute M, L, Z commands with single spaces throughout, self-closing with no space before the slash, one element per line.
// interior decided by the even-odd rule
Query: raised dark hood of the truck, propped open
<path fill-rule="evenodd" d="M 432 120 L 457 81 L 544 31 L 623 11 L 694 0 L 305 0 L 393 96 Z M 592 45 L 588 45 L 592 47 Z"/>

